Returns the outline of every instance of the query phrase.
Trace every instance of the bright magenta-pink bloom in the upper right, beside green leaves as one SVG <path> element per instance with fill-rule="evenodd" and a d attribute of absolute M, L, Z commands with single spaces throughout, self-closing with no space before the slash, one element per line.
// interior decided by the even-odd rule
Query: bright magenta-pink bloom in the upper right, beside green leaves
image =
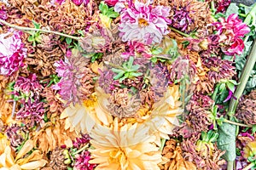
<path fill-rule="evenodd" d="M 217 35 L 220 37 L 218 42 L 221 43 L 224 54 L 241 54 L 244 48 L 241 37 L 244 37 L 250 28 L 238 18 L 237 14 L 230 14 L 227 20 L 224 18 L 218 20 L 219 22 L 212 23 L 212 26 L 216 26 Z"/>

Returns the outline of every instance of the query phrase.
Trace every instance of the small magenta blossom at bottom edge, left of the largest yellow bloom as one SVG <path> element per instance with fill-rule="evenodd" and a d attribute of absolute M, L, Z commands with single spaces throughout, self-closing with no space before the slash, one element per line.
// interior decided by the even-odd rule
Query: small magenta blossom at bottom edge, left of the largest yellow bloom
<path fill-rule="evenodd" d="M 96 164 L 90 164 L 90 151 L 84 150 L 80 155 L 76 155 L 74 170 L 93 170 Z"/>

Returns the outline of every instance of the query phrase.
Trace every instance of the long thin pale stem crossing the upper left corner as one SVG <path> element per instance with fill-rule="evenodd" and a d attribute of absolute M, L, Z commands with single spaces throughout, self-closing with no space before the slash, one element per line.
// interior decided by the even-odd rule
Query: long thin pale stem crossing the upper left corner
<path fill-rule="evenodd" d="M 70 35 L 67 35 L 67 34 L 64 34 L 64 33 L 58 32 L 58 31 L 43 30 L 43 29 L 38 29 L 38 28 L 29 28 L 29 27 L 24 27 L 24 26 L 15 26 L 15 25 L 10 24 L 9 22 L 6 22 L 6 21 L 1 20 L 1 19 L 0 19 L 0 23 L 3 23 L 6 26 L 15 28 L 16 30 L 20 30 L 20 31 L 42 31 L 42 32 L 46 32 L 46 33 L 56 34 L 56 35 L 59 35 L 59 36 L 62 36 L 62 37 L 69 37 L 69 38 L 74 39 L 74 40 L 79 40 L 80 39 L 80 37 L 70 36 Z"/>

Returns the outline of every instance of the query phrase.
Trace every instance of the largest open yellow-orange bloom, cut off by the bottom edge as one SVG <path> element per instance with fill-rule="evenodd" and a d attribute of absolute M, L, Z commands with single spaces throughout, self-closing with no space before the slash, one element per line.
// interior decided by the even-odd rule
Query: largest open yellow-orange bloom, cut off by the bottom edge
<path fill-rule="evenodd" d="M 111 128 L 97 125 L 90 136 L 95 150 L 90 150 L 89 162 L 98 164 L 96 169 L 160 169 L 157 165 L 161 161 L 160 150 L 148 127 L 137 123 L 119 127 L 116 119 Z"/>

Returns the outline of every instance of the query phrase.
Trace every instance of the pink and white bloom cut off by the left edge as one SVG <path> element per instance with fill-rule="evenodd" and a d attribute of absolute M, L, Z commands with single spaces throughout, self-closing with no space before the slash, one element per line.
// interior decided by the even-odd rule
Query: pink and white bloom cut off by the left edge
<path fill-rule="evenodd" d="M 26 48 L 20 39 L 20 32 L 9 31 L 0 35 L 0 74 L 11 76 L 24 66 Z"/>

